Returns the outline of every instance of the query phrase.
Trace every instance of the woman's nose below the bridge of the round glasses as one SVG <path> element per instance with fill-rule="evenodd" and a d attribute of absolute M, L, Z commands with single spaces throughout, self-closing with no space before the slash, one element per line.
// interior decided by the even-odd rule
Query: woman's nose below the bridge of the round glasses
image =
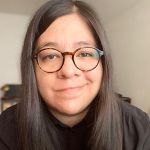
<path fill-rule="evenodd" d="M 73 60 L 71 55 L 66 55 L 64 58 L 64 64 L 62 68 L 58 71 L 59 78 L 72 78 L 74 76 L 79 76 L 81 74 L 81 70 L 79 70 Z"/>

